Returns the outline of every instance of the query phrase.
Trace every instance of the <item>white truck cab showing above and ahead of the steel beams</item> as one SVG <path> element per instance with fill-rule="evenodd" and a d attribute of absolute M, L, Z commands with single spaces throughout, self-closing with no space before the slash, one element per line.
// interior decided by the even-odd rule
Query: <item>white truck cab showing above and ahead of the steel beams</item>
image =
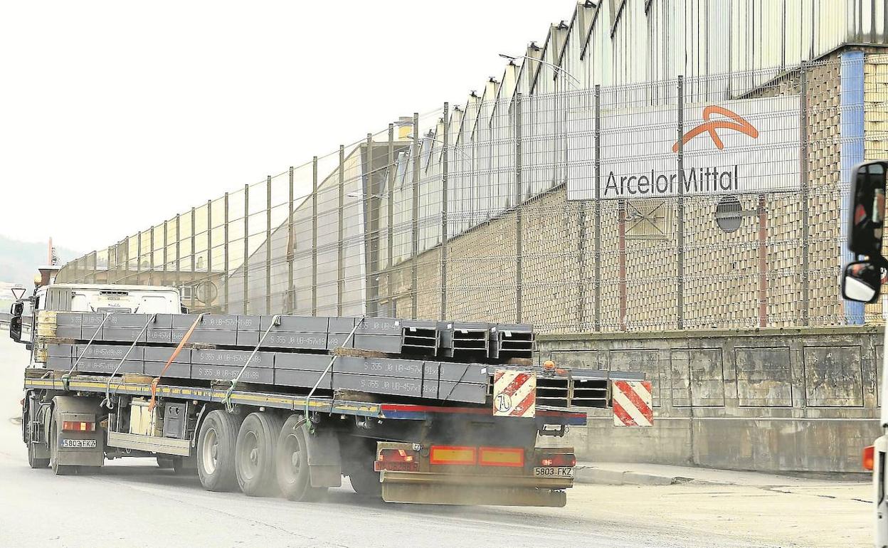
<path fill-rule="evenodd" d="M 29 306 L 26 306 L 29 305 Z M 30 314 L 26 315 L 29 309 Z M 37 313 L 103 312 L 125 314 L 180 314 L 186 312 L 176 288 L 153 285 L 53 283 L 12 304 L 9 336 L 32 348 Z M 32 353 L 33 360 L 33 353 Z"/>

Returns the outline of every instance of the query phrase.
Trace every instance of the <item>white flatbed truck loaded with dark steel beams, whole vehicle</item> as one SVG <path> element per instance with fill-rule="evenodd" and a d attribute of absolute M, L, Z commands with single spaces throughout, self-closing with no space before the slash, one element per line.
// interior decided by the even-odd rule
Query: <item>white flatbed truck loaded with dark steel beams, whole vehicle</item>
<path fill-rule="evenodd" d="M 574 449 L 537 440 L 643 377 L 536 366 L 529 326 L 177 314 L 175 290 L 139 286 L 33 302 L 22 440 L 56 474 L 153 457 L 248 496 L 315 500 L 345 476 L 386 502 L 563 506 Z"/>

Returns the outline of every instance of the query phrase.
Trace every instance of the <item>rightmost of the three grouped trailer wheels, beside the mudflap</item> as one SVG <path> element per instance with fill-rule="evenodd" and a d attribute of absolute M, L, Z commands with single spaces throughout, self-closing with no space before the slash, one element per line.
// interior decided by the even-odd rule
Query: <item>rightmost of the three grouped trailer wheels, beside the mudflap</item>
<path fill-rule="evenodd" d="M 320 498 L 327 488 L 313 488 L 308 471 L 308 451 L 301 418 L 290 415 L 281 428 L 275 450 L 278 487 L 289 500 L 307 502 Z"/>

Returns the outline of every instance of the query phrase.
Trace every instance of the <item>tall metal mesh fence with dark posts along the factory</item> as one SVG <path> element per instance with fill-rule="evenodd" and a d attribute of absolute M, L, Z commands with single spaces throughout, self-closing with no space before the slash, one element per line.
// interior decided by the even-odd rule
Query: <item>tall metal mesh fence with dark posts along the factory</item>
<path fill-rule="evenodd" d="M 860 323 L 837 295 L 839 219 L 852 163 L 884 156 L 867 123 L 886 67 L 860 53 L 583 90 L 556 74 L 529 95 L 491 82 L 72 261 L 57 282 L 174 285 L 212 312 L 544 332 Z"/>

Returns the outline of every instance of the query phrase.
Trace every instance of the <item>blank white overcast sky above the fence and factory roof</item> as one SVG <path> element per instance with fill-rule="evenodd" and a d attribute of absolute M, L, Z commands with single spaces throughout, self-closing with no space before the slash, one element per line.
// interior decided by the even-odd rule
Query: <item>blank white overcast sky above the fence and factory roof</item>
<path fill-rule="evenodd" d="M 464 104 L 573 0 L 0 4 L 0 234 L 87 252 Z"/>

